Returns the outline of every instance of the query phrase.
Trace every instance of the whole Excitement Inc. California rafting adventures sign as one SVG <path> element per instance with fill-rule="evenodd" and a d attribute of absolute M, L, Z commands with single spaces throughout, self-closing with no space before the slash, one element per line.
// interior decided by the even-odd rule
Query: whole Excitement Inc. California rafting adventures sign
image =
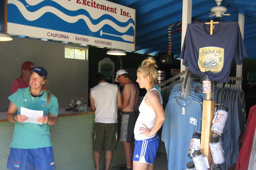
<path fill-rule="evenodd" d="M 7 33 L 135 50 L 135 10 L 105 0 L 8 0 Z"/>

